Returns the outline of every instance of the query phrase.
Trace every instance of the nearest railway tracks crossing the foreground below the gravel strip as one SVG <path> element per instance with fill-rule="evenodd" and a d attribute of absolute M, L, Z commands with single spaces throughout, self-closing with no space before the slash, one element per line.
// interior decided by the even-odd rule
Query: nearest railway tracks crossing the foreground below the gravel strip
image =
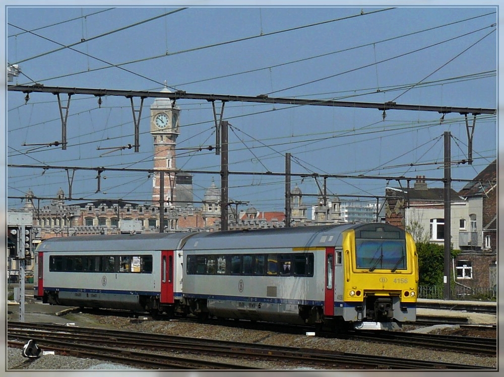
<path fill-rule="evenodd" d="M 41 348 L 58 349 L 67 354 L 97 357 L 102 360 L 156 369 L 247 369 L 240 360 L 271 360 L 287 362 L 289 365 L 314 369 L 492 369 L 484 366 L 452 364 L 404 358 L 369 356 L 347 352 L 319 349 L 279 347 L 263 344 L 247 344 L 209 339 L 131 333 L 118 330 L 66 327 L 26 323 L 8 323 L 9 345 L 20 346 L 33 339 Z M 117 345 L 128 345 L 131 349 L 119 349 Z M 139 350 L 142 350 L 140 352 Z M 114 351 L 113 354 L 105 353 Z M 151 352 L 146 352 L 151 351 Z M 173 357 L 171 353 L 183 354 Z M 198 355 L 188 360 L 187 355 Z M 209 362 L 200 359 L 226 357 L 232 362 Z M 137 364 L 142 362 L 142 364 Z M 185 363 L 183 363 L 185 362 Z M 258 369 L 258 368 L 253 368 Z"/>

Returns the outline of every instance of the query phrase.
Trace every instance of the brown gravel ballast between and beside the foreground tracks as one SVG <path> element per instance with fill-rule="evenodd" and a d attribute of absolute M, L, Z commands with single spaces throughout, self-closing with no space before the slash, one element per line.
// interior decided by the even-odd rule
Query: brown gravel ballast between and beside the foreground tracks
<path fill-rule="evenodd" d="M 327 339 L 306 335 L 293 335 L 264 330 L 250 330 L 236 327 L 199 324 L 185 321 L 132 321 L 130 318 L 115 316 L 96 316 L 86 313 L 69 314 L 65 316 L 69 322 L 78 326 L 111 328 L 124 331 L 146 332 L 186 336 L 192 338 L 208 338 L 217 340 L 231 340 L 244 343 L 259 343 L 298 348 L 317 348 L 347 353 L 379 355 L 386 357 L 400 357 L 408 359 L 430 360 L 466 365 L 481 365 L 495 368 L 496 357 L 477 356 L 449 351 L 434 351 L 414 347 L 396 346 L 392 344 L 370 343 L 364 341 Z M 436 329 L 435 332 L 449 333 L 457 329 Z M 496 333 L 496 330 L 494 330 Z M 189 356 L 188 356 L 189 357 Z M 194 356 L 191 356 L 194 357 Z M 213 359 L 216 359 L 215 357 Z M 44 355 L 35 360 L 28 360 L 21 354 L 21 349 L 9 348 L 7 352 L 7 370 L 11 369 L 131 369 L 126 365 L 105 363 L 102 360 L 77 358 L 62 355 Z M 229 361 L 229 360 L 228 360 Z M 239 360 L 230 361 L 238 365 L 250 365 L 265 369 L 294 370 L 298 365 L 285 365 L 273 361 Z M 309 367 L 308 367 L 309 369 Z"/>

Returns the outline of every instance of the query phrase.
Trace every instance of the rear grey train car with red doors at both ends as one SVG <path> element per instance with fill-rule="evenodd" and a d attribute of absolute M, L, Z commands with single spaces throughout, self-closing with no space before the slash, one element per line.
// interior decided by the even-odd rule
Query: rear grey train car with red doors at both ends
<path fill-rule="evenodd" d="M 51 238 L 35 251 L 34 296 L 44 303 L 175 313 L 187 234 Z"/>

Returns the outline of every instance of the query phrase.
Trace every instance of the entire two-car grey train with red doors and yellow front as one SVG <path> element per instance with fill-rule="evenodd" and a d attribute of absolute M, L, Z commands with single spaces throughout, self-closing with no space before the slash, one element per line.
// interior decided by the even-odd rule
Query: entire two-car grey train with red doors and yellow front
<path fill-rule="evenodd" d="M 416 320 L 412 236 L 379 222 L 260 230 L 98 235 L 35 250 L 43 303 L 396 330 Z"/>

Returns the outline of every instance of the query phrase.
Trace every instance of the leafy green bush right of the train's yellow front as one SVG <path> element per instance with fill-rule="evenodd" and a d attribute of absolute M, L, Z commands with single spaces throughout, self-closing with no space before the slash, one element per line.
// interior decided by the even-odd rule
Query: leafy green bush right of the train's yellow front
<path fill-rule="evenodd" d="M 443 286 L 445 272 L 445 248 L 443 245 L 418 242 L 416 251 L 418 254 L 418 284 Z M 450 249 L 451 258 L 455 258 L 458 254 L 458 250 Z"/>

